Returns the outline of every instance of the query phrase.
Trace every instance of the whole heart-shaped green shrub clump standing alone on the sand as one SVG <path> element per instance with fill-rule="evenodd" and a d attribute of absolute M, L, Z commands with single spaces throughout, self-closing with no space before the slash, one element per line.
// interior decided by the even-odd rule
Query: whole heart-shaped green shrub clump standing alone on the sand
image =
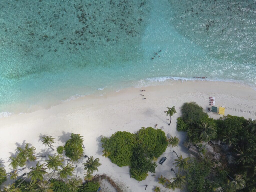
<path fill-rule="evenodd" d="M 130 166 L 131 177 L 144 180 L 148 172 L 155 173 L 157 166 L 152 160 L 165 152 L 168 142 L 160 129 L 142 127 L 136 134 L 116 132 L 110 138 L 101 139 L 103 156 L 122 167 Z"/>

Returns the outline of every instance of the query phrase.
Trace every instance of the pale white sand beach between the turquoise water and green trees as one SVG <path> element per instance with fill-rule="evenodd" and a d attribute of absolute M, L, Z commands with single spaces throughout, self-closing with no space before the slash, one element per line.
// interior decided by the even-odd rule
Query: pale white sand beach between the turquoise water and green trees
<path fill-rule="evenodd" d="M 184 102 L 195 101 L 204 109 L 209 107 L 208 97 L 215 97 L 216 105 L 226 107 L 225 114 L 244 116 L 256 119 L 256 91 L 239 83 L 210 82 L 210 81 L 169 81 L 161 86 L 142 88 L 128 88 L 119 92 L 111 92 L 101 97 L 89 95 L 77 100 L 64 102 L 48 110 L 39 110 L 29 114 L 12 115 L 0 119 L 0 157 L 7 171 L 9 156 L 15 152 L 17 146 L 31 143 L 38 153 L 54 154 L 50 148 L 45 147 L 40 141 L 40 135 L 55 137 L 53 147 L 63 145 L 69 139 L 70 133 L 79 133 L 84 137 L 84 154 L 100 158 L 102 165 L 98 174 L 107 174 L 120 184 L 124 191 L 142 191 L 147 184 L 146 191 L 153 191 L 155 186 L 160 186 L 161 191 L 169 191 L 157 183 L 157 177 L 174 177 L 170 168 L 175 150 L 184 157 L 189 154 L 182 146 L 185 134 L 176 131 L 176 118 L 180 116 L 180 108 Z M 140 94 L 144 94 L 141 96 Z M 146 100 L 143 100 L 146 98 Z M 168 117 L 164 111 L 166 106 L 175 106 L 177 114 L 168 126 Z M 219 118 L 220 115 L 208 113 L 210 117 Z M 116 131 L 129 131 L 135 133 L 142 126 L 157 128 L 164 126 L 163 131 L 180 138 L 178 147 L 168 147 L 162 156 L 167 160 L 163 165 L 158 164 L 156 177 L 152 174 L 142 182 L 138 182 L 129 175 L 128 167 L 118 167 L 108 158 L 102 157 L 100 143 L 101 135 L 111 136 Z M 161 156 L 161 157 L 162 157 Z M 161 158 L 159 157 L 159 159 Z M 82 159 L 85 162 L 86 159 Z M 37 162 L 28 163 L 35 166 Z M 79 175 L 83 177 L 82 164 L 79 164 Z M 28 171 L 28 169 L 27 169 Z M 179 191 L 179 190 L 176 190 Z"/>

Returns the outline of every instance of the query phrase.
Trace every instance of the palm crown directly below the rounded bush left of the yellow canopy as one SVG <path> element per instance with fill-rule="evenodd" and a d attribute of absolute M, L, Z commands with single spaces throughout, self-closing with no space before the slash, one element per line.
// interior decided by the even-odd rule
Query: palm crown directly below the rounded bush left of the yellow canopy
<path fill-rule="evenodd" d="M 199 138 L 203 141 L 210 141 L 211 138 L 217 136 L 217 131 L 214 129 L 213 125 L 208 125 L 208 123 L 201 122 L 201 124 L 197 124 L 199 126 L 198 129 L 195 129 L 200 133 Z"/>

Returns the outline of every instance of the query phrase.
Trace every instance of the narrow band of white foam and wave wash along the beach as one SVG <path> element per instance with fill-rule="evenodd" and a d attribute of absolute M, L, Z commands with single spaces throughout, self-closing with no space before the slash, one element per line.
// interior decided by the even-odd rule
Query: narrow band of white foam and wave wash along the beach
<path fill-rule="evenodd" d="M 103 87 L 103 88 L 98 88 L 96 89 L 93 93 L 89 93 L 89 94 L 86 94 L 86 95 L 81 95 L 81 94 L 74 94 L 74 95 L 71 95 L 69 96 L 68 98 L 65 98 L 65 99 L 62 99 L 62 100 L 55 100 L 55 101 L 52 101 L 51 102 L 51 105 L 49 104 L 46 104 L 46 103 L 43 103 L 43 104 L 33 104 L 33 105 L 30 105 L 29 107 L 25 105 L 26 104 L 22 104 L 22 103 L 18 103 L 18 105 L 21 105 L 23 109 L 18 109 L 16 108 L 16 112 L 11 112 L 11 111 L 3 111 L 3 112 L 0 112 L 0 119 L 1 118 L 6 118 L 6 117 L 9 117 L 9 116 L 12 116 L 12 115 L 17 115 L 17 114 L 27 114 L 27 113 L 33 113 L 33 112 L 36 112 L 36 111 L 39 111 L 39 110 L 48 110 L 48 109 L 51 109 L 52 107 L 54 106 L 57 106 L 57 105 L 61 105 L 63 103 L 66 103 L 66 102 L 70 102 L 70 101 L 73 101 L 73 100 L 77 100 L 79 98 L 84 98 L 84 97 L 88 97 L 88 96 L 93 96 L 93 97 L 101 97 L 105 94 L 109 94 L 111 92 L 119 92 L 119 91 L 122 91 L 122 90 L 126 90 L 126 89 L 130 89 L 130 88 L 143 88 L 143 87 L 151 87 L 151 86 L 163 86 L 163 85 L 173 85 L 174 83 L 183 83 L 183 82 L 194 82 L 194 83 L 197 83 L 197 82 L 201 82 L 201 81 L 206 81 L 206 82 L 216 82 L 216 83 L 231 83 L 231 84 L 239 84 L 240 86 L 243 86 L 245 88 L 251 88 L 253 90 L 255 90 L 256 92 L 256 86 L 252 85 L 252 84 L 246 84 L 246 83 L 243 83 L 241 81 L 220 81 L 220 80 L 211 80 L 211 79 L 196 79 L 196 78 L 183 78 L 183 77 L 169 77 L 169 76 L 165 76 L 165 77 L 151 77 L 151 78 L 146 78 L 146 79 L 141 79 L 137 82 L 133 82 L 133 86 L 131 87 L 124 87 L 124 88 L 121 88 L 121 89 L 118 89 L 118 88 L 109 88 L 109 87 Z M 50 95 L 48 95 L 49 98 L 50 98 Z M 56 99 L 56 98 L 55 98 Z M 47 99 L 44 99 L 44 100 L 47 100 Z M 47 100 L 49 101 L 49 100 Z M 12 104 L 13 106 L 15 104 Z"/>

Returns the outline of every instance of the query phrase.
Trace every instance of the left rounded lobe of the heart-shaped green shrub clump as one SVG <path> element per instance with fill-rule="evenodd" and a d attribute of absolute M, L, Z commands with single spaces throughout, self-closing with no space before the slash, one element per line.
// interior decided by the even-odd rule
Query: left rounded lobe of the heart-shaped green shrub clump
<path fill-rule="evenodd" d="M 101 139 L 102 147 L 110 152 L 108 156 L 112 163 L 122 167 L 131 164 L 132 150 L 136 144 L 135 135 L 129 132 L 118 131 L 110 138 Z"/>

